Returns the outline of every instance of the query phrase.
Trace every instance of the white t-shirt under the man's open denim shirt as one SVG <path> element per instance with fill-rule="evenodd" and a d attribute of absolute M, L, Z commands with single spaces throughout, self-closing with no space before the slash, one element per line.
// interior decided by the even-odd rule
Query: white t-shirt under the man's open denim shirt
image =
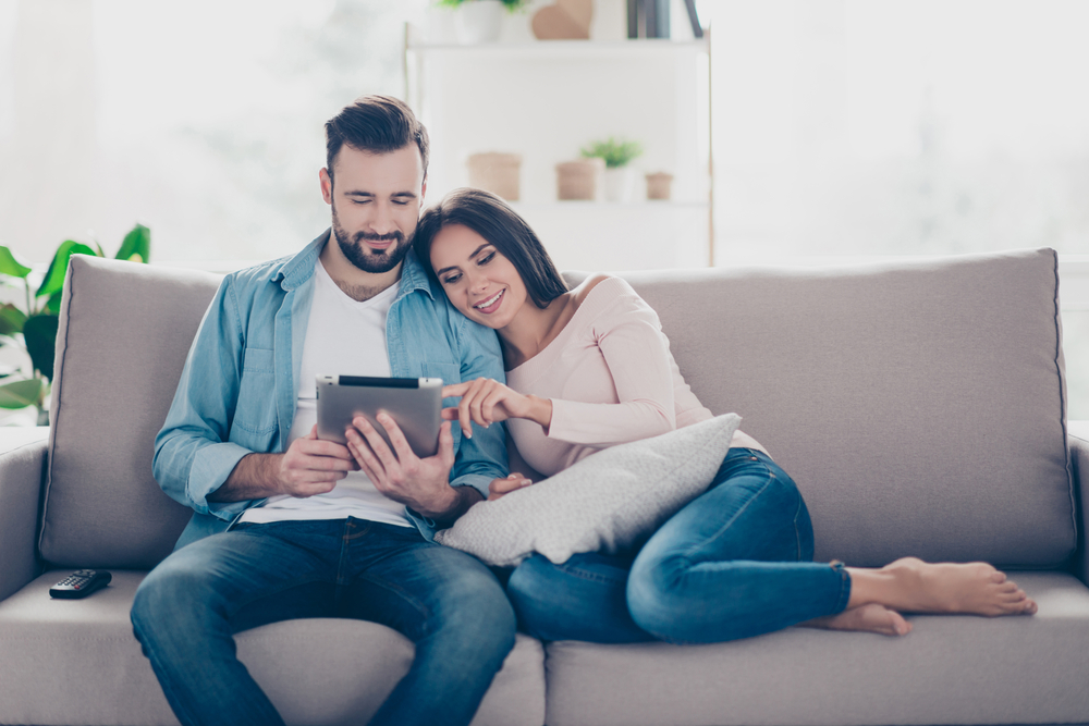
<path fill-rule="evenodd" d="M 386 348 L 386 317 L 397 295 L 391 285 L 369 300 L 356 302 L 333 282 L 319 259 L 314 266 L 314 300 L 306 324 L 298 399 L 287 445 L 305 436 L 318 421 L 317 376 L 390 374 Z M 379 492 L 362 471 L 350 471 L 327 494 L 306 499 L 270 496 L 259 507 L 246 509 L 240 521 L 269 522 L 284 519 L 371 519 L 413 527 L 400 502 Z"/>

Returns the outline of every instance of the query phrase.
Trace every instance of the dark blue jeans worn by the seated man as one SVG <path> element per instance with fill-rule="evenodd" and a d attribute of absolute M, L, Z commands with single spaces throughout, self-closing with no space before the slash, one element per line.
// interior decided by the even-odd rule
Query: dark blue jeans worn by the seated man
<path fill-rule="evenodd" d="M 243 524 L 178 550 L 136 591 L 133 629 L 182 724 L 282 724 L 233 635 L 296 617 L 387 625 L 416 644 L 371 724 L 468 724 L 514 647 L 495 577 L 415 528 Z"/>

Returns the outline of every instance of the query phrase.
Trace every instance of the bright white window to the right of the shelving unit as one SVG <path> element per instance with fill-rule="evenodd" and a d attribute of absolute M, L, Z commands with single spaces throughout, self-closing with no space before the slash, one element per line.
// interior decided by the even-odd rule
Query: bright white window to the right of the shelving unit
<path fill-rule="evenodd" d="M 1089 3 L 711 0 L 717 260 L 1060 253 L 1089 418 Z"/>

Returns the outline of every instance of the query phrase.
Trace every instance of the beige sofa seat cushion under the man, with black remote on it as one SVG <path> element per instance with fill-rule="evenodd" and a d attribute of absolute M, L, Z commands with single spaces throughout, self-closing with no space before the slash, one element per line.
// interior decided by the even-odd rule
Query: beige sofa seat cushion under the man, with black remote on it
<path fill-rule="evenodd" d="M 0 723 L 178 724 L 129 610 L 146 573 L 114 570 L 86 600 L 51 600 L 53 570 L 0 602 Z M 412 643 L 375 623 L 314 618 L 241 632 L 238 657 L 289 724 L 365 723 L 407 672 Z M 543 652 L 519 635 L 473 722 L 540 726 Z"/>

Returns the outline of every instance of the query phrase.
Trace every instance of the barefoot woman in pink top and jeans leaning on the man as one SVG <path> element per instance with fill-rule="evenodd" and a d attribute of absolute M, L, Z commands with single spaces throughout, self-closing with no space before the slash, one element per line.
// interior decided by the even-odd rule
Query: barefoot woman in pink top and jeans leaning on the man
<path fill-rule="evenodd" d="M 711 417 L 669 350 L 658 317 L 619 278 L 567 290 L 526 223 L 498 197 L 457 189 L 420 218 L 416 254 L 463 315 L 498 331 L 507 385 L 479 379 L 444 418 L 509 420 L 546 476 L 627 441 Z M 492 482 L 498 499 L 528 484 Z M 717 642 L 804 624 L 904 635 L 901 612 L 1031 614 L 1036 604 L 984 563 L 898 559 L 880 569 L 813 563 L 794 482 L 737 432 L 708 490 L 631 556 L 540 555 L 511 575 L 524 627 L 544 640 Z"/>

